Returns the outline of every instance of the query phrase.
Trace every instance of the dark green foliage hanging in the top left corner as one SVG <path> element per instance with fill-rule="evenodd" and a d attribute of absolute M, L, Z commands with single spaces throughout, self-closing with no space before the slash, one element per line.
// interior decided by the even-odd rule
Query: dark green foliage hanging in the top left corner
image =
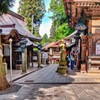
<path fill-rule="evenodd" d="M 7 13 L 9 8 L 13 6 L 15 0 L 0 0 L 1 14 Z"/>

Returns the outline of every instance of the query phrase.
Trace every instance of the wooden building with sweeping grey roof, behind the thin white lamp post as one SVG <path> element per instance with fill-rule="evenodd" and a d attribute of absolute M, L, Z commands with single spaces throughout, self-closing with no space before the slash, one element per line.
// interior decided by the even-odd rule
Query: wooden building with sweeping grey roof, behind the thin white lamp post
<path fill-rule="evenodd" d="M 13 68 L 16 68 L 16 63 L 21 57 L 20 42 L 23 38 L 26 40 L 28 60 L 32 62 L 33 48 L 37 47 L 33 42 L 41 41 L 41 38 L 34 36 L 26 27 L 25 18 L 9 11 L 8 14 L 0 16 L 0 35 L 3 46 L 3 58 L 6 59 L 8 68 L 10 67 L 10 48 L 9 39 L 12 38 L 12 60 Z M 26 59 L 27 60 L 27 59 Z M 21 60 L 22 61 L 22 60 Z M 20 62 L 20 61 L 19 61 Z"/>

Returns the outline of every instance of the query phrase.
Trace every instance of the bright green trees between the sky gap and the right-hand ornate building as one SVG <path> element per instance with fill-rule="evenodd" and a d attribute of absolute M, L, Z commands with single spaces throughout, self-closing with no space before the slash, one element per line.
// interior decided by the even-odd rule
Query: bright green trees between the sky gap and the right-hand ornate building
<path fill-rule="evenodd" d="M 62 39 L 74 31 L 67 25 L 63 0 L 51 0 L 49 11 L 53 13 L 50 17 L 53 20 L 49 39 L 51 42 Z"/>

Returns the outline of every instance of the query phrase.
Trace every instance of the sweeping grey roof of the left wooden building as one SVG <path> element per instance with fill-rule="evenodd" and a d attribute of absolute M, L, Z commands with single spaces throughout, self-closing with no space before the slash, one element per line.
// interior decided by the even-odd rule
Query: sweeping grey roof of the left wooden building
<path fill-rule="evenodd" d="M 14 14 L 12 14 L 12 13 L 13 12 L 8 13 L 8 14 L 3 14 L 2 16 L 0 16 L 0 26 L 1 26 L 0 28 L 2 29 L 2 34 L 3 35 L 10 34 L 11 30 L 15 29 L 22 36 L 27 36 L 30 39 L 34 40 L 34 41 L 40 41 L 41 40 L 41 38 L 38 38 L 38 37 L 34 36 L 27 29 L 26 23 L 23 20 L 24 19 L 23 17 L 21 17 L 20 15 L 18 15 L 16 13 L 14 13 Z M 8 25 L 9 27 L 3 27 L 3 26 L 6 26 L 6 25 Z M 11 25 L 15 25 L 15 27 L 11 27 Z"/>

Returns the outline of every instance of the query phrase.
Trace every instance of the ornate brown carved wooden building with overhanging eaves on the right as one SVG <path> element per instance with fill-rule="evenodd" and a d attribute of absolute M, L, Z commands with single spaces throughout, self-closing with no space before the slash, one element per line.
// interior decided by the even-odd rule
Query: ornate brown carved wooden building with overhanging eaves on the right
<path fill-rule="evenodd" d="M 78 30 L 81 69 L 87 67 L 87 72 L 100 72 L 100 0 L 63 2 L 69 27 Z"/>

